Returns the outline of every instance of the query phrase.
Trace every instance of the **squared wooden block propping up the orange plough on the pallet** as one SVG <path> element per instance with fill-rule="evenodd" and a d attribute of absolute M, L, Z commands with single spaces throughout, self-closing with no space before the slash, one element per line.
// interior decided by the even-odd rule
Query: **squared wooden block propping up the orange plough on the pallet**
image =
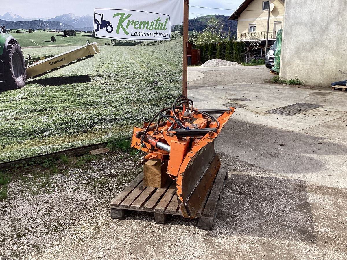
<path fill-rule="evenodd" d="M 143 165 L 143 185 L 152 188 L 163 188 L 168 180 L 166 173 L 168 162 L 160 160 L 148 160 Z"/>

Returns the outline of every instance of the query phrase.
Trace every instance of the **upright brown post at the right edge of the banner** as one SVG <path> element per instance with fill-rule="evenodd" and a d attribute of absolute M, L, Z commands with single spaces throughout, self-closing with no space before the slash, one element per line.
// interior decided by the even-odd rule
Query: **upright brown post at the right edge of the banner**
<path fill-rule="evenodd" d="M 188 80 L 188 15 L 189 15 L 189 1 L 184 0 L 183 3 L 183 96 L 188 95 L 187 80 Z"/>

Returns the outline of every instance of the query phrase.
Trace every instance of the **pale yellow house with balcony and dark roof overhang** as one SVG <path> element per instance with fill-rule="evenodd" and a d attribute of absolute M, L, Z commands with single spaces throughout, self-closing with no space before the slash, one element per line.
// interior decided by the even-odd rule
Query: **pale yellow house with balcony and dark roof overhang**
<path fill-rule="evenodd" d="M 229 17 L 237 20 L 237 41 L 266 41 L 269 7 L 269 40 L 276 40 L 277 31 L 282 29 L 284 0 L 245 0 Z"/>

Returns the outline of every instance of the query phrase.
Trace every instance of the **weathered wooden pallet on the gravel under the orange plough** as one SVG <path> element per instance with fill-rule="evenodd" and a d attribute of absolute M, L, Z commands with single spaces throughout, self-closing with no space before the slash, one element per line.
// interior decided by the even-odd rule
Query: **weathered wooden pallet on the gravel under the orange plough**
<path fill-rule="evenodd" d="M 208 230 L 213 228 L 227 179 L 228 166 L 222 164 L 212 188 L 206 194 L 202 206 L 197 212 L 199 228 Z M 161 224 L 166 223 L 168 215 L 183 216 L 178 207 L 175 182 L 171 181 L 166 188 L 161 189 L 143 187 L 143 172 L 111 202 L 112 218 L 124 218 L 126 210 L 154 213 L 154 221 Z"/>

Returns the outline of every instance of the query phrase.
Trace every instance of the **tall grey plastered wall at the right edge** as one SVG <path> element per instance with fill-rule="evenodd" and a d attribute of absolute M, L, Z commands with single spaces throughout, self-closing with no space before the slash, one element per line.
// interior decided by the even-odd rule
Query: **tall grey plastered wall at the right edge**
<path fill-rule="evenodd" d="M 281 78 L 319 86 L 346 80 L 347 1 L 285 1 L 281 52 Z"/>

